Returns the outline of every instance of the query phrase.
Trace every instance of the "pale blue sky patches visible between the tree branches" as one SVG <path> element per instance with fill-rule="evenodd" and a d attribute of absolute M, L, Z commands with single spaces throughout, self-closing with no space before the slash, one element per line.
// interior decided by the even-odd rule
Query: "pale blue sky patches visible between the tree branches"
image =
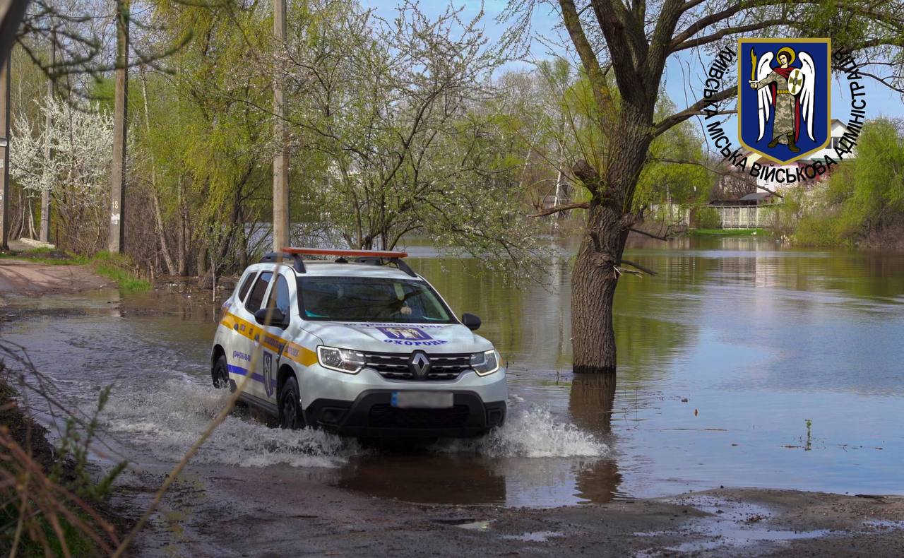
<path fill-rule="evenodd" d="M 514 1 L 517 2 L 518 0 Z M 396 6 L 399 5 L 399 0 L 364 0 L 364 5 L 374 8 L 376 13 L 382 17 L 391 19 L 396 13 L 395 10 Z M 447 5 L 449 3 L 443 0 L 425 0 L 421 2 L 420 9 L 425 14 L 436 15 L 443 12 Z M 476 0 L 453 0 L 452 5 L 463 8 L 462 17 L 464 18 L 476 16 L 480 13 L 481 6 L 483 6 L 485 33 L 491 41 L 497 41 L 508 28 L 505 22 L 496 21 L 504 13 L 507 0 L 486 0 L 483 3 Z M 532 14 L 532 34 L 534 39 L 531 43 L 531 58 L 534 61 L 539 61 L 550 58 L 553 54 L 560 54 L 569 58 L 576 65 L 578 61 L 572 53 L 562 51 L 560 48 L 551 49 L 551 44 L 566 44 L 570 46 L 568 33 L 559 28 L 560 15 L 558 10 L 554 11 L 553 7 L 544 3 L 538 5 Z M 703 76 L 709 63 L 709 59 L 702 57 L 697 52 L 673 54 L 666 62 L 664 76 L 665 93 L 677 107 L 686 107 L 702 97 Z M 531 65 L 531 61 L 512 61 L 506 65 L 506 68 L 529 68 Z M 867 87 L 867 118 L 880 116 L 904 118 L 904 102 L 901 101 L 899 93 L 890 90 L 875 80 L 867 79 L 863 80 L 862 83 Z M 846 122 L 849 118 L 850 109 L 851 94 L 850 90 L 848 90 L 848 84 L 843 77 L 834 76 L 832 118 L 839 118 Z M 724 128 L 732 142 L 738 145 L 737 122 L 734 118 L 730 118 Z"/>

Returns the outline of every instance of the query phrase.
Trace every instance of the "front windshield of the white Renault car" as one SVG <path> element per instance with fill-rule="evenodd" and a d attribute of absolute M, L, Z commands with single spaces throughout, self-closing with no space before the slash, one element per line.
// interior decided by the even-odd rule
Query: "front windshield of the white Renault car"
<path fill-rule="evenodd" d="M 453 323 L 427 283 L 375 277 L 298 279 L 298 307 L 305 319 L 338 322 Z"/>

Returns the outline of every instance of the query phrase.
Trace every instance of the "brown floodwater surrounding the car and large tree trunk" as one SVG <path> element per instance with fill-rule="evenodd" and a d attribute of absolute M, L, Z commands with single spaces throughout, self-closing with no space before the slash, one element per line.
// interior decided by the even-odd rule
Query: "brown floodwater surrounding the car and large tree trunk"
<path fill-rule="evenodd" d="M 474 275 L 479 260 L 416 258 L 459 314 L 483 318 L 507 361 L 503 429 L 374 449 L 236 412 L 196 460 L 431 503 L 555 506 L 720 486 L 904 494 L 904 257 L 752 238 L 629 252 L 658 275 L 619 283 L 615 377 L 570 374 L 567 259 L 551 264 L 551 289 L 519 290 Z M 108 459 L 174 462 L 223 402 L 209 387 L 209 297 L 105 290 L 14 305 L 61 310 L 3 328 L 61 398 L 89 411 L 113 383 Z"/>

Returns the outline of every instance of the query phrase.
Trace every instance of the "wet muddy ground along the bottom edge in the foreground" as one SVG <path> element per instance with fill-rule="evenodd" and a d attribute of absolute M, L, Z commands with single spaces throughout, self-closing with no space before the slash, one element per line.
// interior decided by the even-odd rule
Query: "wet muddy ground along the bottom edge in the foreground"
<path fill-rule="evenodd" d="M 127 473 L 135 515 L 164 470 Z M 286 468 L 190 468 L 139 556 L 890 556 L 904 498 L 722 489 L 604 506 L 428 506 L 299 482 Z"/>

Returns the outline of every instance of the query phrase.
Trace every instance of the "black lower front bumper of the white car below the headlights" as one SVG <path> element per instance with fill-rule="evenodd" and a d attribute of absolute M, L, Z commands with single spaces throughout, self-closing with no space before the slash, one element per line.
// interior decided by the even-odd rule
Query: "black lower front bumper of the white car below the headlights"
<path fill-rule="evenodd" d="M 316 399 L 304 411 L 306 424 L 359 438 L 468 438 L 505 421 L 505 402 L 484 402 L 476 392 L 453 390 L 451 409 L 397 409 L 392 392 L 368 390 L 353 402 Z"/>

